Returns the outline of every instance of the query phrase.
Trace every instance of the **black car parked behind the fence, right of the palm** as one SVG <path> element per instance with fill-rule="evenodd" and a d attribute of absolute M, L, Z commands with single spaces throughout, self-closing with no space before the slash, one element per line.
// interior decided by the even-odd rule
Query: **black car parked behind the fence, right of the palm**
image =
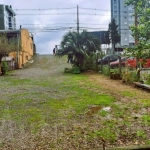
<path fill-rule="evenodd" d="M 117 61 L 118 57 L 120 57 L 120 56 L 114 55 L 114 54 L 106 55 L 102 59 L 98 59 L 98 64 L 107 65 L 110 62 Z"/>

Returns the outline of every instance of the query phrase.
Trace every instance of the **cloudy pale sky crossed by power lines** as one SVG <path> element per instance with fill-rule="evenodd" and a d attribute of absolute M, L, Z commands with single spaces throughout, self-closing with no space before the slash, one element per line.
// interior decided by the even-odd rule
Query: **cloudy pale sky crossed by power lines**
<path fill-rule="evenodd" d="M 0 3 L 12 6 L 16 28 L 21 25 L 34 35 L 39 54 L 52 54 L 66 32 L 77 31 L 77 5 L 80 32 L 105 31 L 110 23 L 110 0 L 0 0 Z"/>

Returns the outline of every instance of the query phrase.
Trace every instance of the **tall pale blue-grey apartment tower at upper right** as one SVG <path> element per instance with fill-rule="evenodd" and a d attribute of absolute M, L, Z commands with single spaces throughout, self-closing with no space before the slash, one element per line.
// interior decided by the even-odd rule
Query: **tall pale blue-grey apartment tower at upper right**
<path fill-rule="evenodd" d="M 116 48 L 131 47 L 135 44 L 132 37 L 130 26 L 134 24 L 134 9 L 132 6 L 126 6 L 125 0 L 111 0 L 111 19 L 116 20 L 118 31 L 121 36 L 120 44 Z"/>

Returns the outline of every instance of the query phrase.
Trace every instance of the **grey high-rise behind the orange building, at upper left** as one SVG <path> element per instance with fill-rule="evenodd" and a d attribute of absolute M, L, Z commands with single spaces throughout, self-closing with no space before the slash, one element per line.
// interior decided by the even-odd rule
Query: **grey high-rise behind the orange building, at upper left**
<path fill-rule="evenodd" d="M 15 12 L 11 6 L 0 5 L 0 30 L 15 30 Z"/>

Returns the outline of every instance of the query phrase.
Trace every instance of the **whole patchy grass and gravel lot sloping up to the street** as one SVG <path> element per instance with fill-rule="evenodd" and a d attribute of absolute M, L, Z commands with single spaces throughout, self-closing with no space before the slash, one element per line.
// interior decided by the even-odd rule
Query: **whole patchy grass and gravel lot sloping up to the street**
<path fill-rule="evenodd" d="M 66 61 L 37 56 L 26 68 L 0 77 L 0 149 L 150 144 L 149 93 L 114 86 L 98 74 L 64 73 L 71 67 Z"/>

